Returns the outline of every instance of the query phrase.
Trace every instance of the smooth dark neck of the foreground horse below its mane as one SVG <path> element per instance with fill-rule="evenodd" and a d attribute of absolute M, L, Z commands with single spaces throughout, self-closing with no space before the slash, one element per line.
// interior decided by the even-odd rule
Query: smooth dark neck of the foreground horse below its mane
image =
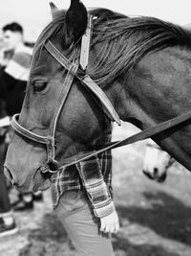
<path fill-rule="evenodd" d="M 183 57 L 185 50 L 165 49 L 143 58 L 126 79 L 115 83 L 115 107 L 123 121 L 145 129 L 190 111 L 191 69 L 189 57 Z M 185 125 L 161 132 L 155 141 L 191 170 L 191 130 Z"/>

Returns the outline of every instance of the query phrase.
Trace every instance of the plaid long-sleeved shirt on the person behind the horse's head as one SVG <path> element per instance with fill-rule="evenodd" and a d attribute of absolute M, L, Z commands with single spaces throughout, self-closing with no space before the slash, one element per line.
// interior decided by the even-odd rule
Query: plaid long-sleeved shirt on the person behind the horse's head
<path fill-rule="evenodd" d="M 96 140 L 93 148 L 110 141 L 111 134 L 107 134 Z M 111 151 L 104 151 L 54 174 L 52 176 L 53 208 L 58 205 L 59 198 L 65 191 L 74 189 L 85 190 L 97 218 L 105 217 L 115 211 L 112 199 Z"/>

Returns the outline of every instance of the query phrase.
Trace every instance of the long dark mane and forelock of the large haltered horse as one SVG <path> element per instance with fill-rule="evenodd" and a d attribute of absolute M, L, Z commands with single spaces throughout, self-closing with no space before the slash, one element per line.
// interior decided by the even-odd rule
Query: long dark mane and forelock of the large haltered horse
<path fill-rule="evenodd" d="M 127 73 L 149 53 L 174 46 L 191 49 L 191 33 L 170 22 L 147 16 L 130 18 L 107 9 L 89 13 L 95 17 L 91 47 L 100 43 L 101 51 L 88 74 L 100 86 Z M 56 13 L 53 22 L 39 36 L 34 53 L 42 48 L 46 39 L 57 33 L 61 35 L 65 14 L 64 10 Z"/>

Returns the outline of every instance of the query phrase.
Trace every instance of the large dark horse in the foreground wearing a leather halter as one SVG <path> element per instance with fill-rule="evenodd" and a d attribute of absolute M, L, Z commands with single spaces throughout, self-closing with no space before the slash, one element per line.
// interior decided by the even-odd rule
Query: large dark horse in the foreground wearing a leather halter
<path fill-rule="evenodd" d="M 33 49 L 5 175 L 21 191 L 48 189 L 66 159 L 80 161 L 118 118 L 145 130 L 189 112 L 190 53 L 190 32 L 155 17 L 87 11 L 78 0 L 56 10 Z M 191 170 L 190 136 L 188 119 L 152 139 Z"/>

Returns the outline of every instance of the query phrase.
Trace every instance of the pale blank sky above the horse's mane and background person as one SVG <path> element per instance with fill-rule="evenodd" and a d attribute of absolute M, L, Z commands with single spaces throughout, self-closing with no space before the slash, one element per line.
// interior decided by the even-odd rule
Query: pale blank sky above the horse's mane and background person
<path fill-rule="evenodd" d="M 12 21 L 23 25 L 27 40 L 34 41 L 51 20 L 49 0 L 1 0 L 0 27 Z M 184 25 L 191 23 L 190 0 L 82 0 L 86 7 L 103 7 L 129 15 L 158 17 Z M 70 0 L 53 0 L 68 9 Z"/>

